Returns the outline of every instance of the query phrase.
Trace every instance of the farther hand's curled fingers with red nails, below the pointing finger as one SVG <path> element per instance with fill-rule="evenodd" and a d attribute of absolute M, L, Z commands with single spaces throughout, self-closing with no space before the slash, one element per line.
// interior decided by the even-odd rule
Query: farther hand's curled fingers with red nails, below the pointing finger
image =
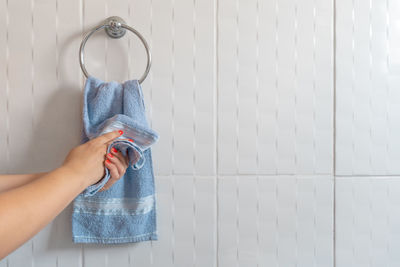
<path fill-rule="evenodd" d="M 129 160 L 127 156 L 124 157 L 120 151 L 113 147 L 111 148 L 111 153 L 107 154 L 107 159 L 104 164 L 109 169 L 111 178 L 100 189 L 100 191 L 109 189 L 115 182 L 124 176 L 126 169 L 129 166 Z"/>

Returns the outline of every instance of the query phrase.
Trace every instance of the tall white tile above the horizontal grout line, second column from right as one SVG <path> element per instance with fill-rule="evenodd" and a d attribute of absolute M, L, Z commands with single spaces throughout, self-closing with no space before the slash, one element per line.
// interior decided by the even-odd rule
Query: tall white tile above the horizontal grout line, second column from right
<path fill-rule="evenodd" d="M 331 174 L 332 2 L 218 3 L 220 173 Z"/>

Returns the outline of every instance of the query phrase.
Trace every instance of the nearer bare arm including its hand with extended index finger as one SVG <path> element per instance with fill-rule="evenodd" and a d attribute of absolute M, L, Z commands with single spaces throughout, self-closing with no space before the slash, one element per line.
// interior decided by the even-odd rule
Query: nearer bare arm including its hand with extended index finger
<path fill-rule="evenodd" d="M 70 151 L 63 165 L 32 182 L 0 194 L 0 259 L 53 220 L 87 186 L 104 176 L 108 143 L 118 131 Z"/>

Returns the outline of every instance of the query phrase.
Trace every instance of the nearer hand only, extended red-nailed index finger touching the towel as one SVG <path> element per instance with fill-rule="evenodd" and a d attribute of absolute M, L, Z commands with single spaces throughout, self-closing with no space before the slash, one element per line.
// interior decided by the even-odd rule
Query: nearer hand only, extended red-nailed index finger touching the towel
<path fill-rule="evenodd" d="M 73 148 L 62 167 L 83 179 L 86 187 L 95 184 L 105 175 L 104 158 L 108 145 L 122 134 L 121 130 L 112 131 Z"/>

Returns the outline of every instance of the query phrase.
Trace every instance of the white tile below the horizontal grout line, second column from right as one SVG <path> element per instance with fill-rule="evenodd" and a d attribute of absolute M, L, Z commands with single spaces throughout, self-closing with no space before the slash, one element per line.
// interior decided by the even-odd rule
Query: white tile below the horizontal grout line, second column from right
<path fill-rule="evenodd" d="M 331 176 L 221 177 L 218 266 L 332 266 Z"/>

